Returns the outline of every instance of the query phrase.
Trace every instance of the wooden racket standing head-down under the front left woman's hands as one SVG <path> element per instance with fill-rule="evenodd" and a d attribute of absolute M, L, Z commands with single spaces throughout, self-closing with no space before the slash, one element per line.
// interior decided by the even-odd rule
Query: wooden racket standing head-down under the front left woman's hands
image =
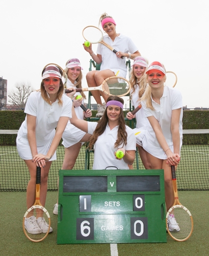
<path fill-rule="evenodd" d="M 40 183 L 41 183 L 41 168 L 36 168 L 36 200 L 33 206 L 29 208 L 23 217 L 23 231 L 25 236 L 33 242 L 41 242 L 47 237 L 50 229 L 51 220 L 48 211 L 40 203 Z M 43 223 L 43 218 L 48 224 L 48 230 L 42 230 L 41 228 L 35 228 L 35 222 Z M 41 222 L 41 223 L 40 223 Z"/>

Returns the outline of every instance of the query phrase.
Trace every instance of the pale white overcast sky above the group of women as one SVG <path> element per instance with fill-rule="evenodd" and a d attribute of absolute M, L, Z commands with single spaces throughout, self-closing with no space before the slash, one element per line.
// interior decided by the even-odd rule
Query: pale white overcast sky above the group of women
<path fill-rule="evenodd" d="M 90 55 L 82 30 L 98 26 L 107 12 L 117 33 L 132 38 L 149 63 L 161 61 L 177 74 L 184 106 L 209 107 L 208 0 L 0 0 L 0 8 L 0 76 L 8 80 L 8 91 L 20 82 L 39 89 L 47 63 L 65 68 L 72 57 L 82 63 L 86 87 Z"/>

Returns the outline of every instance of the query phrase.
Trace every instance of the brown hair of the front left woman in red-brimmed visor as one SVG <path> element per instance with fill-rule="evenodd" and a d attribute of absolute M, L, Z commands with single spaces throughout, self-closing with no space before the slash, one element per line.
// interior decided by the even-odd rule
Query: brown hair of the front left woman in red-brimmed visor
<path fill-rule="evenodd" d="M 58 66 L 56 66 L 56 67 L 59 69 L 60 74 L 61 74 L 61 76 L 62 76 L 62 75 L 63 75 L 62 70 L 61 70 Z M 41 73 L 42 75 L 43 75 L 44 70 L 45 70 L 45 68 L 43 69 L 43 71 L 42 71 L 42 73 Z M 45 90 L 45 88 L 44 88 L 44 80 L 41 81 L 40 91 L 41 91 L 41 97 L 42 97 L 49 105 L 51 105 L 51 101 L 49 100 L 48 94 L 47 94 L 47 92 L 46 92 L 46 90 Z M 64 92 L 64 85 L 63 85 L 62 79 L 60 78 L 60 88 L 59 88 L 58 93 L 57 93 L 57 99 L 58 99 L 58 104 L 61 105 L 61 106 L 62 106 L 62 103 L 63 103 L 63 101 L 62 101 L 63 92 Z"/>

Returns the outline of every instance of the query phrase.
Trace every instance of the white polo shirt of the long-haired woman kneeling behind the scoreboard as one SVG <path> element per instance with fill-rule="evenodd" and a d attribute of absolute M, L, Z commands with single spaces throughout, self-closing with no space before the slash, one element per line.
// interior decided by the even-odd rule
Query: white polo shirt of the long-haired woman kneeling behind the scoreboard
<path fill-rule="evenodd" d="M 88 122 L 88 133 L 93 134 L 97 122 Z M 126 126 L 127 144 L 122 146 L 126 151 L 136 150 L 136 138 L 132 129 Z M 117 150 L 114 144 L 117 139 L 118 126 L 110 130 L 107 124 L 105 132 L 100 135 L 94 144 L 94 164 L 93 169 L 106 169 L 108 166 L 116 166 L 118 169 L 129 169 L 124 160 L 115 158 L 114 152 Z"/>

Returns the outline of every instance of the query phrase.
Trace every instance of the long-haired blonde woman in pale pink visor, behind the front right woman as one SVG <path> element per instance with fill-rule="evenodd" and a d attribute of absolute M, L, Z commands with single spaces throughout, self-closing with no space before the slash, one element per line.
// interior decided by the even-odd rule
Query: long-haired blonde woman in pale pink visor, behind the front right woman
<path fill-rule="evenodd" d="M 136 57 L 132 65 L 132 70 L 130 71 L 129 82 L 132 87 L 130 90 L 130 98 L 132 100 L 132 105 L 136 109 L 137 106 L 141 103 L 141 97 L 144 94 L 144 91 L 147 87 L 146 83 L 146 70 L 148 67 L 148 61 L 142 56 Z M 126 115 L 127 119 L 132 120 L 136 118 L 136 129 L 134 129 L 134 134 L 137 139 L 137 147 L 139 151 L 140 158 L 146 169 L 149 169 L 149 162 L 147 160 L 147 153 L 142 147 L 142 138 L 146 131 L 148 120 L 144 115 L 144 110 L 141 109 L 135 115 L 131 112 L 128 112 Z M 133 169 L 133 166 L 129 166 L 130 169 Z"/>

